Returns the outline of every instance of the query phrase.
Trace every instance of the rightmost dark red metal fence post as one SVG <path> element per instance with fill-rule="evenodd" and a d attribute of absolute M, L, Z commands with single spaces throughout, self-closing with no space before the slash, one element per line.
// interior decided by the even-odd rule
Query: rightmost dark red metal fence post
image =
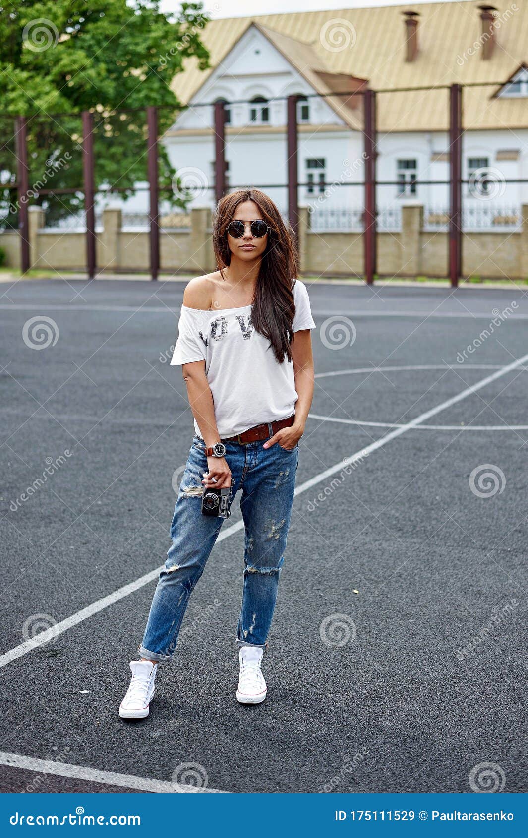
<path fill-rule="evenodd" d="M 449 278 L 462 276 L 462 87 L 449 88 Z"/>

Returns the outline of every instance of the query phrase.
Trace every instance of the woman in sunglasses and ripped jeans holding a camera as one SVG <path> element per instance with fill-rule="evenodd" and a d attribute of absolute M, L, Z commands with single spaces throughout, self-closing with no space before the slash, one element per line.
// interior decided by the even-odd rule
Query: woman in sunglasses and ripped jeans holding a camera
<path fill-rule="evenodd" d="M 215 213 L 219 270 L 185 287 L 172 365 L 182 365 L 195 436 L 179 486 L 163 571 L 139 647 L 122 718 L 148 716 L 158 664 L 170 660 L 190 594 L 223 517 L 202 512 L 204 489 L 241 489 L 244 584 L 236 633 L 236 698 L 264 701 L 267 649 L 284 561 L 303 436 L 313 399 L 308 292 L 292 237 L 258 189 L 226 195 Z M 220 493 L 218 493 L 220 494 Z M 229 497 L 229 495 L 228 495 Z"/>

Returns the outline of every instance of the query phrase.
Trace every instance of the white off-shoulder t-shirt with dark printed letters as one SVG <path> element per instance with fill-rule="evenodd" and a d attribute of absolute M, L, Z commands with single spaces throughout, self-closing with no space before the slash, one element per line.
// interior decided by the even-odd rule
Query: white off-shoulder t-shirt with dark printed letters
<path fill-rule="evenodd" d="M 293 286 L 292 331 L 316 328 L 306 286 Z M 205 376 L 215 404 L 220 438 L 234 437 L 248 427 L 292 416 L 298 392 L 292 361 L 277 363 L 272 344 L 251 320 L 251 304 L 218 312 L 182 305 L 178 340 L 171 365 L 205 361 Z M 202 434 L 194 419 L 194 430 Z"/>

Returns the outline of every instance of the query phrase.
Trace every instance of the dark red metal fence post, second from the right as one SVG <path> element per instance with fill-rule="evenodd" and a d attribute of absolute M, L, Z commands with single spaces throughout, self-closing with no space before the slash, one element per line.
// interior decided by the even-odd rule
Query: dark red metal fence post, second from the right
<path fill-rule="evenodd" d="M 375 220 L 375 91 L 366 90 L 365 113 L 365 213 L 363 223 L 363 252 L 366 282 L 374 282 L 376 272 L 376 220 Z"/>

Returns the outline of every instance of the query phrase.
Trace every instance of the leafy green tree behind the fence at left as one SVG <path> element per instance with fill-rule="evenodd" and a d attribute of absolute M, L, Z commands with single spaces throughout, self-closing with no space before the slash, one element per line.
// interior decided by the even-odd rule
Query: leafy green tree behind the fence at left
<path fill-rule="evenodd" d="M 160 107 L 160 135 L 183 107 L 170 88 L 184 60 L 200 69 L 209 52 L 200 39 L 209 18 L 201 3 L 163 14 L 159 0 L 0 0 L 0 216 L 16 224 L 13 117 L 28 119 L 28 203 L 49 219 L 76 212 L 81 194 L 80 111 L 94 114 L 96 189 L 110 184 L 123 197 L 147 176 L 145 108 Z M 159 182 L 173 168 L 159 148 Z M 53 198 L 38 195 L 54 189 Z M 75 189 L 68 194 L 60 190 Z M 166 193 L 172 197 L 170 193 Z M 181 199 L 173 199 L 182 204 Z"/>

